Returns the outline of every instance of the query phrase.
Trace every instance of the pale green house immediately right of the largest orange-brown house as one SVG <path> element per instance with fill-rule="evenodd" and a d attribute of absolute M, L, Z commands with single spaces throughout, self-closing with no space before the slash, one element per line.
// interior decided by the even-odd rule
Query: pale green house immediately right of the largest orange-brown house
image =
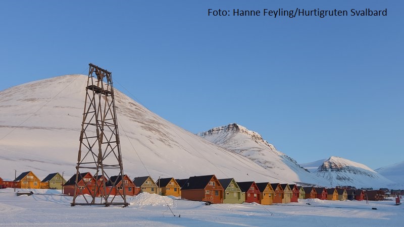
<path fill-rule="evenodd" d="M 223 203 L 243 203 L 245 195 L 241 192 L 237 182 L 233 178 L 219 179 L 223 187 Z"/>

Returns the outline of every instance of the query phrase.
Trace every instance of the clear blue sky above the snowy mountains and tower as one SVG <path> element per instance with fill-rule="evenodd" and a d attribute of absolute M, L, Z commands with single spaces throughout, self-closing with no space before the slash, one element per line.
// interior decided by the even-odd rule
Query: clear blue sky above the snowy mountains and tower
<path fill-rule="evenodd" d="M 88 63 L 197 133 L 238 123 L 298 163 L 404 160 L 400 1 L 4 1 L 0 90 Z M 384 10 L 386 17 L 213 17 L 208 9 Z M 84 98 L 84 97 L 83 97 Z"/>

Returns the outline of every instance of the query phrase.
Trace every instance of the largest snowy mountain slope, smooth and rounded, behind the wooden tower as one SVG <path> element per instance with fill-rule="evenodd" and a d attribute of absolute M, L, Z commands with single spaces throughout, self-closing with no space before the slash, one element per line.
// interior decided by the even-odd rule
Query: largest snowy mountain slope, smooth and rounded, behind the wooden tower
<path fill-rule="evenodd" d="M 87 76 L 67 75 L 0 92 L 0 177 L 33 171 L 75 174 Z M 215 174 L 237 181 L 289 181 L 200 138 L 115 91 L 125 174 L 188 178 Z M 133 147 L 132 147 L 133 145 Z M 143 166 L 144 164 L 144 166 Z M 311 179 L 308 179 L 311 180 Z"/>

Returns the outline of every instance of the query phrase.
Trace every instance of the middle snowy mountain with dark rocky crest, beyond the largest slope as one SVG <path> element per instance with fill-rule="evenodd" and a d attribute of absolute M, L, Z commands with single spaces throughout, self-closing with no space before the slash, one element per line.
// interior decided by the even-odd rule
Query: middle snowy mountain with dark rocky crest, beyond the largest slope
<path fill-rule="evenodd" d="M 260 134 L 235 123 L 213 128 L 199 136 L 241 154 L 274 174 L 274 180 L 328 185 L 322 178 L 300 167 L 295 160 L 278 151 Z"/>

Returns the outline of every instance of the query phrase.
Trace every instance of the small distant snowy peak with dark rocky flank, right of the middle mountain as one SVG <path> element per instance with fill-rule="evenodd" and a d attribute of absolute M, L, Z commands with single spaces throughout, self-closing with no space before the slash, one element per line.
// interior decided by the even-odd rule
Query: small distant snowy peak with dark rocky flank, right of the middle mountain
<path fill-rule="evenodd" d="M 326 178 L 330 186 L 350 185 L 357 188 L 389 188 L 394 182 L 368 166 L 345 158 L 331 156 L 315 172 Z"/>

